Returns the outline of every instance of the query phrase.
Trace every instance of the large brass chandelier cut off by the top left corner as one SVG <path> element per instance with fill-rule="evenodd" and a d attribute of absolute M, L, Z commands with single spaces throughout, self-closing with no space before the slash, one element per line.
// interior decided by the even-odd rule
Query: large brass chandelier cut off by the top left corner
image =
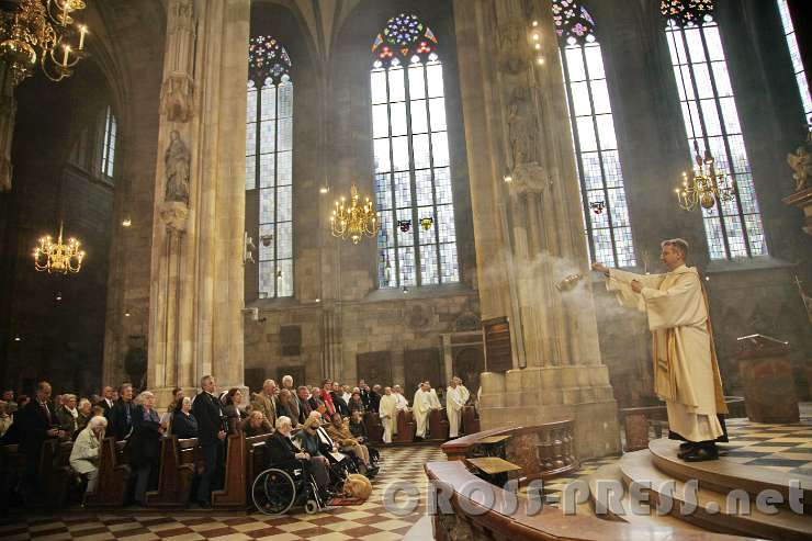
<path fill-rule="evenodd" d="M 72 75 L 87 56 L 88 27 L 75 24 L 71 13 L 84 8 L 83 0 L 0 0 L 0 58 L 14 87 L 34 74 L 37 63 L 52 81 Z M 77 34 L 74 48 L 69 42 Z"/>

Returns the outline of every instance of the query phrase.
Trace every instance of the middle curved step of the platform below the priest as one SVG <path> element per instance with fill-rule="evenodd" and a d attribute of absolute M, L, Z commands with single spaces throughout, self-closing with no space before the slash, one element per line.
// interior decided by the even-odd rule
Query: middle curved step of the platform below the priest
<path fill-rule="evenodd" d="M 649 494 L 652 505 L 655 506 L 658 501 L 666 500 L 668 492 L 665 487 L 673 484 L 672 516 L 702 529 L 776 541 L 812 539 L 812 517 L 808 515 L 798 515 L 788 508 L 777 508 L 777 514 L 767 515 L 756 508 L 755 498 L 751 499 L 749 514 L 732 512 L 726 508 L 726 492 L 717 493 L 701 486 L 696 491 L 695 511 L 683 515 L 683 509 L 690 508 L 691 505 L 690 497 L 686 496 L 686 488 L 689 487 L 683 480 L 675 480 L 658 470 L 654 463 L 654 454 L 647 450 L 624 454 L 619 461 L 619 469 L 625 493 L 636 486 Z M 651 489 L 643 488 L 645 482 L 651 483 Z"/>

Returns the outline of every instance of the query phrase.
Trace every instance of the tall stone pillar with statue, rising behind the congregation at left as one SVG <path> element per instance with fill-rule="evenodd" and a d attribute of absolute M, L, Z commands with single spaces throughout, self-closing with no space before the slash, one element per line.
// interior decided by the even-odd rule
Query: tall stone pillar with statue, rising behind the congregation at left
<path fill-rule="evenodd" d="M 248 26 L 249 0 L 168 2 L 147 371 L 161 404 L 205 374 L 243 385 Z"/>

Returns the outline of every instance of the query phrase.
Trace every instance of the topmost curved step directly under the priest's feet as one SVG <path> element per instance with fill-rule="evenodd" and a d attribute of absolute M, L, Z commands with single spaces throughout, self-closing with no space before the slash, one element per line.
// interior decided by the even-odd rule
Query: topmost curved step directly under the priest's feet
<path fill-rule="evenodd" d="M 759 493 L 772 489 L 778 491 L 783 501 L 787 503 L 789 501 L 789 483 L 798 481 L 803 492 L 805 512 L 812 514 L 812 476 L 788 474 L 729 460 L 685 462 L 677 458 L 679 442 L 666 438 L 650 441 L 649 450 L 654 465 L 675 480 L 697 480 L 700 488 L 720 494 L 743 489 L 751 494 L 753 501 Z M 723 446 L 720 446 L 720 450 L 723 450 Z"/>

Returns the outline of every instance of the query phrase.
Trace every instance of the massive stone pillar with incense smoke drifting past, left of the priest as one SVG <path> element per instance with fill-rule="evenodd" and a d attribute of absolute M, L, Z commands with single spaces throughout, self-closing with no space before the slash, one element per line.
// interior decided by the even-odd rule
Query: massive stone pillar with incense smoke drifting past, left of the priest
<path fill-rule="evenodd" d="M 482 317 L 507 315 L 515 346 L 514 370 L 482 375 L 482 428 L 571 418 L 580 459 L 618 452 L 550 2 L 455 0 L 454 13 Z"/>

